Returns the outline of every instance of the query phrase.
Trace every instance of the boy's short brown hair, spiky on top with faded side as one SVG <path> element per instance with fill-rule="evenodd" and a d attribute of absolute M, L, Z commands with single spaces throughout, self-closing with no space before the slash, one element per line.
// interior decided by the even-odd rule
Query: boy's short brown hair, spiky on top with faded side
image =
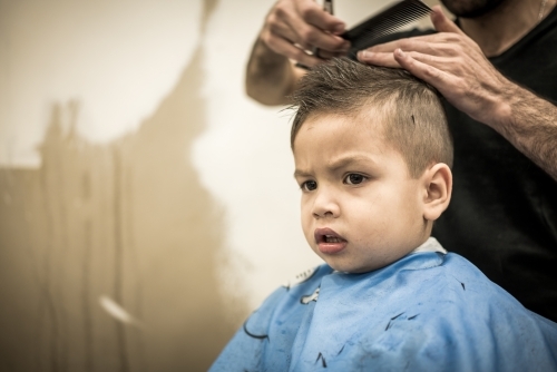
<path fill-rule="evenodd" d="M 399 150 L 410 176 L 418 178 L 432 163 L 452 166 L 452 138 L 438 91 L 405 70 L 367 66 L 335 58 L 307 72 L 291 97 L 296 135 L 310 116 L 358 116 L 367 107 L 382 112 L 383 136 Z"/>

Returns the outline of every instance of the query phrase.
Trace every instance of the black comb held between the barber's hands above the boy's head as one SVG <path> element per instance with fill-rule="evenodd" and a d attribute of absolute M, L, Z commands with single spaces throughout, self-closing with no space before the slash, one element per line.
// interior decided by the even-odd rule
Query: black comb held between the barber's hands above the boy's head
<path fill-rule="evenodd" d="M 358 51 L 373 46 L 379 38 L 393 33 L 430 12 L 431 8 L 420 0 L 398 1 L 342 35 L 342 38 L 352 43 L 349 56 L 355 59 Z"/>

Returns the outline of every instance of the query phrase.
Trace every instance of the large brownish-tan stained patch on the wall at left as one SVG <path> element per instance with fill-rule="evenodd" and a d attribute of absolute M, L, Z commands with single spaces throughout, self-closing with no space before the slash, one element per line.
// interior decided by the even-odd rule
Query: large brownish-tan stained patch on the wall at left
<path fill-rule="evenodd" d="M 203 30 L 216 1 L 205 3 Z M 202 40 L 203 41 L 203 40 Z M 225 226 L 190 153 L 206 127 L 203 43 L 136 133 L 95 145 L 53 105 L 38 169 L 0 168 L 0 361 L 10 371 L 206 371 L 237 324 Z M 133 99 L 133 97 L 126 97 Z M 110 296 L 143 326 L 109 316 Z"/>

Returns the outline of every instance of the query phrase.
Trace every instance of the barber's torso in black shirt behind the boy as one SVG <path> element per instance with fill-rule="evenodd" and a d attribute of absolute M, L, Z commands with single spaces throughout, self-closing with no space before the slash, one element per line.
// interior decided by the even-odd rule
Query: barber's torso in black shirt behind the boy
<path fill-rule="evenodd" d="M 556 46 L 554 10 L 490 61 L 510 80 L 557 102 Z M 433 236 L 526 307 L 557 321 L 557 182 L 494 129 L 449 104 L 446 109 L 455 186 Z"/>

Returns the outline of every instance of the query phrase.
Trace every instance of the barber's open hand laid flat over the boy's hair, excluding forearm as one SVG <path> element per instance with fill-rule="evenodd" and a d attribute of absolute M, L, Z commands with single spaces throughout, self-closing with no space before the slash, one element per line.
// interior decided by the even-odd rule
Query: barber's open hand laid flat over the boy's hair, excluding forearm
<path fill-rule="evenodd" d="M 361 62 L 402 67 L 436 87 L 455 107 L 491 127 L 505 116 L 516 86 L 487 60 L 479 46 L 440 7 L 431 20 L 439 33 L 400 39 L 359 52 Z M 507 98 L 506 98 L 507 97 Z"/>

